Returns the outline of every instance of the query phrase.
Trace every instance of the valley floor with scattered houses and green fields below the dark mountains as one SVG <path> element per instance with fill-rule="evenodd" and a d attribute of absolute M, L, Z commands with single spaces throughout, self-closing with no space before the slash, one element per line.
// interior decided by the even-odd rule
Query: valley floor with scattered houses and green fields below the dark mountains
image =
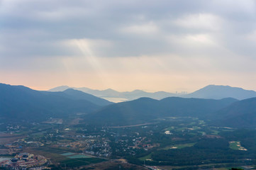
<path fill-rule="evenodd" d="M 199 118 L 166 117 L 119 127 L 68 122 L 3 124 L 0 153 L 42 155 L 52 169 L 87 169 L 101 162 L 127 169 L 213 169 L 256 161 L 256 147 L 250 143 L 256 141 L 256 130 L 211 126 Z"/>

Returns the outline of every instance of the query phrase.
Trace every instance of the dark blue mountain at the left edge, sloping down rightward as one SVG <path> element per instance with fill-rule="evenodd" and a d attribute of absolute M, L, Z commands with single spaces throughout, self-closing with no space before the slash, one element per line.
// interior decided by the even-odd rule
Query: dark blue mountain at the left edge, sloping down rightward
<path fill-rule="evenodd" d="M 35 91 L 26 86 L 0 84 L 0 96 L 0 117 L 11 120 L 66 118 L 76 113 L 91 113 L 100 108 L 84 100 L 84 96 L 75 98 L 74 94 L 70 95 L 70 91 Z"/>

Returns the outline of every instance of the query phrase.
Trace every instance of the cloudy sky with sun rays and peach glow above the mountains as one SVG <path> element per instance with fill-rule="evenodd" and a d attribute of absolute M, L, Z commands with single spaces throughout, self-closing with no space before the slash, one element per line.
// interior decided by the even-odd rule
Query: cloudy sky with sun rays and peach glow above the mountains
<path fill-rule="evenodd" d="M 0 82 L 256 91 L 256 1 L 0 0 Z"/>

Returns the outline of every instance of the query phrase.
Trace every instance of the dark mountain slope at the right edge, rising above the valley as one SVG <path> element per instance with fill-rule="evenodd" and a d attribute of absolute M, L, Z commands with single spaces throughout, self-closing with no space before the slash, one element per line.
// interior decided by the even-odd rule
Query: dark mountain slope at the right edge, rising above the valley
<path fill-rule="evenodd" d="M 256 128 L 256 98 L 237 101 L 209 117 L 213 124 L 237 128 Z"/>

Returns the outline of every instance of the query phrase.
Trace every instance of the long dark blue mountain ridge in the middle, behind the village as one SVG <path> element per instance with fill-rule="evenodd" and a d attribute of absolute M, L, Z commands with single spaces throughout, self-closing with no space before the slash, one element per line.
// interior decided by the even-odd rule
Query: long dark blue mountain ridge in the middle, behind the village
<path fill-rule="evenodd" d="M 231 103 L 237 101 L 234 98 L 221 100 L 201 98 L 169 97 L 157 101 L 152 98 L 139 98 L 134 101 L 116 103 L 101 108 L 96 113 L 86 115 L 89 123 L 101 123 L 105 125 L 133 125 L 148 123 L 157 118 L 172 116 L 191 116 L 204 118 Z"/>

